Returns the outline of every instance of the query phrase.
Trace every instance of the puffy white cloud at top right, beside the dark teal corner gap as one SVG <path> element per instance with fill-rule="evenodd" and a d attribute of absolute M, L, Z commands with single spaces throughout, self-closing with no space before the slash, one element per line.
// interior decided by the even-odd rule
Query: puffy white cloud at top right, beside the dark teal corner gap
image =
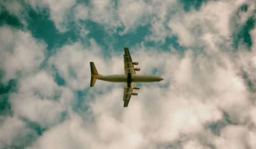
<path fill-rule="evenodd" d="M 179 44 L 185 46 L 204 45 L 199 39 L 209 34 L 214 35 L 215 41 L 229 40 L 231 17 L 242 4 L 238 1 L 203 3 L 199 11 L 191 10 L 187 13 L 178 11 L 169 20 L 168 27 L 179 37 Z"/>

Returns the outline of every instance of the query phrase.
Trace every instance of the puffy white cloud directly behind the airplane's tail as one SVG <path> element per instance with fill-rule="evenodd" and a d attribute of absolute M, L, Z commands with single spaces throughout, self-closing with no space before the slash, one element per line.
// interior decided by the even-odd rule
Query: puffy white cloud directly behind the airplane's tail
<path fill-rule="evenodd" d="M 102 49 L 93 39 L 89 48 L 85 48 L 80 42 L 76 42 L 71 45 L 64 45 L 58 51 L 50 61 L 56 66 L 67 85 L 74 90 L 83 90 L 90 86 L 90 61 L 95 62 L 99 73 L 108 72 L 108 67 L 103 66 L 103 63 L 107 61 L 102 58 Z"/>

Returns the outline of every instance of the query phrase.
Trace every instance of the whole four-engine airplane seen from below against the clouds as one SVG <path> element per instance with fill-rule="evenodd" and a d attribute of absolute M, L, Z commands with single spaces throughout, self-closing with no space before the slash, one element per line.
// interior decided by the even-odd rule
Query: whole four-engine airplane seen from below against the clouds
<path fill-rule="evenodd" d="M 129 49 L 124 47 L 124 74 L 113 74 L 109 76 L 102 76 L 98 73 L 93 62 L 90 62 L 91 66 L 91 84 L 93 87 L 96 80 L 108 81 L 108 82 L 118 82 L 124 83 L 123 91 L 123 107 L 127 107 L 132 95 L 138 95 L 137 92 L 133 92 L 133 89 L 140 89 L 140 87 L 135 86 L 135 83 L 149 83 L 149 82 L 159 82 L 163 78 L 154 75 L 142 75 L 136 74 L 136 71 L 140 71 L 140 68 L 134 68 L 134 65 L 138 65 L 139 62 L 133 62 Z"/>

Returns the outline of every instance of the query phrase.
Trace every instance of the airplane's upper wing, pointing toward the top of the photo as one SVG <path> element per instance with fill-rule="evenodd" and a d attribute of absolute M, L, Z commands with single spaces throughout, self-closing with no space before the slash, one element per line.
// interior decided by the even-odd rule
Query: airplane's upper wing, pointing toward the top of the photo
<path fill-rule="evenodd" d="M 136 74 L 134 70 L 134 65 L 133 60 L 131 58 L 129 49 L 127 47 L 124 47 L 124 55 L 123 55 L 123 60 L 124 60 L 124 74 Z"/>

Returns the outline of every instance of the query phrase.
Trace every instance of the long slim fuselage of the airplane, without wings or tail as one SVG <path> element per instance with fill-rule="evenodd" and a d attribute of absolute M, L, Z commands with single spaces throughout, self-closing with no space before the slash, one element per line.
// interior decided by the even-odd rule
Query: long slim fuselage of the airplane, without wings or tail
<path fill-rule="evenodd" d="M 97 78 L 99 80 L 108 81 L 108 82 L 127 82 L 127 74 L 113 74 L 109 76 L 102 76 Z M 159 82 L 163 78 L 154 76 L 154 75 L 141 75 L 141 74 L 132 74 L 132 82 L 134 83 L 149 83 L 149 82 Z"/>

